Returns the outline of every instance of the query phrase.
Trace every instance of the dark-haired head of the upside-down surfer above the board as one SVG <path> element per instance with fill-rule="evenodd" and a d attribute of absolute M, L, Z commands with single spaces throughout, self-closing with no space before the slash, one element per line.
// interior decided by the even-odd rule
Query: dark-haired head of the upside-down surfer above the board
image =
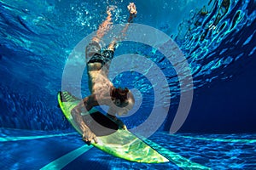
<path fill-rule="evenodd" d="M 112 88 L 111 99 L 119 116 L 127 114 L 135 103 L 133 94 L 128 88 Z"/>

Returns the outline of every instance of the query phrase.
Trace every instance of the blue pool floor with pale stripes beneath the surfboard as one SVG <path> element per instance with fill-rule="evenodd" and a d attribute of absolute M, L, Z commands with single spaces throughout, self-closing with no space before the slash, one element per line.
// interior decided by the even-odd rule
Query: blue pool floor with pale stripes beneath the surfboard
<path fill-rule="evenodd" d="M 0 128 L 1 169 L 254 169 L 256 134 L 154 133 L 145 142 L 170 162 L 125 161 L 84 144 L 76 132 Z"/>

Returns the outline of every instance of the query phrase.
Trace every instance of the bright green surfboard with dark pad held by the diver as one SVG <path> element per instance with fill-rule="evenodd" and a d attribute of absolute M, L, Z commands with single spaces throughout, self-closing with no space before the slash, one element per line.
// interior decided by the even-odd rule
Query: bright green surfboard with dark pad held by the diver
<path fill-rule="evenodd" d="M 61 111 L 66 116 L 68 122 L 82 135 L 82 131 L 76 122 L 73 121 L 71 115 L 72 109 L 80 101 L 81 99 L 74 97 L 68 92 L 58 93 L 58 102 Z M 119 129 L 118 124 L 100 111 L 93 109 L 87 113 L 82 113 L 82 115 L 85 124 L 96 134 L 98 143 L 96 144 L 94 141 L 91 143 L 96 148 L 128 161 L 143 163 L 162 163 L 169 161 L 128 130 Z"/>

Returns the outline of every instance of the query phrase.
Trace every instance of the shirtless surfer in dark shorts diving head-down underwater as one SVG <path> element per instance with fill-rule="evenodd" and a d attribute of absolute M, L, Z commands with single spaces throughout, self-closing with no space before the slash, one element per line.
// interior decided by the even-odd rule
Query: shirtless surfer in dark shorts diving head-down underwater
<path fill-rule="evenodd" d="M 127 6 L 130 17 L 128 23 L 124 27 L 122 33 L 125 34 L 129 24 L 136 17 L 137 10 L 134 3 Z M 118 38 L 108 45 L 108 49 L 103 50 L 100 46 L 102 37 L 109 31 L 112 25 L 113 7 L 107 10 L 108 17 L 99 26 L 96 31 L 96 36 L 91 39 L 89 45 L 85 48 L 85 59 L 87 64 L 87 73 L 89 77 L 90 95 L 84 98 L 79 105 L 74 107 L 72 116 L 79 128 L 83 131 L 83 140 L 90 144 L 92 140 L 97 143 L 95 133 L 90 131 L 90 128 L 85 124 L 82 112 L 90 111 L 96 105 L 108 105 L 108 117 L 119 124 L 119 127 L 126 128 L 115 115 L 122 116 L 127 114 L 134 105 L 134 97 L 128 88 L 115 88 L 113 83 L 108 79 L 108 70 L 113 59 L 113 53 L 117 45 Z"/>

